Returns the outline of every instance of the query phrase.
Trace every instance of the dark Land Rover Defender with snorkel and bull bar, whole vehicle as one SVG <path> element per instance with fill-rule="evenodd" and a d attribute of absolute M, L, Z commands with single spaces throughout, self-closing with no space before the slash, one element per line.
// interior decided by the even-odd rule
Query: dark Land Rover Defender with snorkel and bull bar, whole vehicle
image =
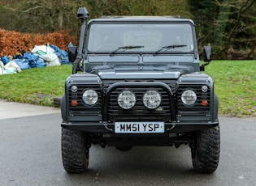
<path fill-rule="evenodd" d="M 89 148 L 188 144 L 193 167 L 212 173 L 219 163 L 218 98 L 202 74 L 194 23 L 170 16 L 91 19 L 85 7 L 80 43 L 61 100 L 62 155 L 67 172 L 86 171 Z M 81 71 L 80 73 L 77 73 Z"/>

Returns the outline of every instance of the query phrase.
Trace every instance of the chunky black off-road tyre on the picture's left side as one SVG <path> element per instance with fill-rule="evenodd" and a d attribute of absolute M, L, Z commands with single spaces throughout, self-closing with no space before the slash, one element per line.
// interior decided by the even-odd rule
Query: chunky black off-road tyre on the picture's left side
<path fill-rule="evenodd" d="M 68 173 L 85 172 L 89 164 L 88 139 L 85 133 L 62 128 L 63 167 Z"/>

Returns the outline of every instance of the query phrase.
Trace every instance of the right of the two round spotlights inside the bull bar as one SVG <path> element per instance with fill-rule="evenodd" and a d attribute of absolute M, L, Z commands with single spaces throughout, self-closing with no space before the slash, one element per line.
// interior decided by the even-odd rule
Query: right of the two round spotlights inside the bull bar
<path fill-rule="evenodd" d="M 158 91 L 146 91 L 143 95 L 143 104 L 147 108 L 158 108 L 161 100 L 162 98 Z"/>

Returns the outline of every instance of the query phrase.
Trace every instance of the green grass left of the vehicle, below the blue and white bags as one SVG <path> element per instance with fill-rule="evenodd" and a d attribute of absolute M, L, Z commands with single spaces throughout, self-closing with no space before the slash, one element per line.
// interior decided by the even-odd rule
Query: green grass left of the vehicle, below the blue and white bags
<path fill-rule="evenodd" d="M 19 74 L 0 76 L 0 98 L 8 101 L 54 106 L 54 97 L 65 91 L 65 80 L 72 66 L 51 66 L 23 70 Z"/>

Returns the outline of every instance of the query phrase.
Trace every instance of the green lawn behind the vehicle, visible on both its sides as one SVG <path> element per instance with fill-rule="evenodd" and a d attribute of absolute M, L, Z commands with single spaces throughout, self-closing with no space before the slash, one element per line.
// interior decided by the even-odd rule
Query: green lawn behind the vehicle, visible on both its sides
<path fill-rule="evenodd" d="M 71 73 L 65 65 L 0 75 L 0 99 L 54 106 Z M 256 116 L 256 61 L 212 61 L 204 73 L 215 81 L 220 115 Z"/>

